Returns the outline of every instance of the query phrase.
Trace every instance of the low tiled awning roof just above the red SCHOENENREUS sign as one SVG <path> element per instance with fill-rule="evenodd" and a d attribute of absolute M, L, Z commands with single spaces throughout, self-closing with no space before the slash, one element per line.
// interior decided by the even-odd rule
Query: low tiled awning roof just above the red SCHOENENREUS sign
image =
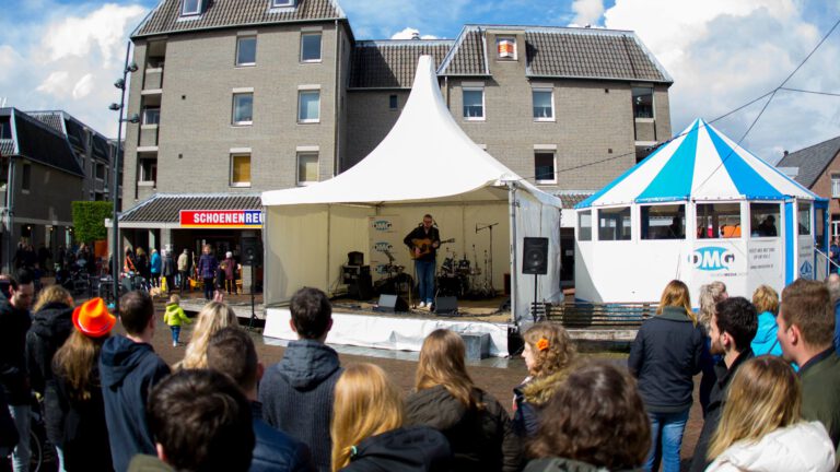
<path fill-rule="evenodd" d="M 259 193 L 156 193 L 120 215 L 120 222 L 178 223 L 182 210 L 259 210 Z"/>

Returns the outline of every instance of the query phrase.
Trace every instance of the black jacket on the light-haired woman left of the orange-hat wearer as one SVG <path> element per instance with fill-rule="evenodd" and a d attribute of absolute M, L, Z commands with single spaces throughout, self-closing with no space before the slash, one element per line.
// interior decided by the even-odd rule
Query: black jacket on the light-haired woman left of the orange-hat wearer
<path fill-rule="evenodd" d="M 44 394 L 52 378 L 52 356 L 73 330 L 73 307 L 62 303 L 47 304 L 32 316 L 26 333 L 26 365 L 32 389 Z"/>

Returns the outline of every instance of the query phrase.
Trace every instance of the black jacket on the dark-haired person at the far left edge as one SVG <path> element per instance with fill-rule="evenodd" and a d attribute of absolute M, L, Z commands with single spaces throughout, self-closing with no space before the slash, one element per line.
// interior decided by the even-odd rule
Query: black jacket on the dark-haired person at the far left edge
<path fill-rule="evenodd" d="M 26 332 L 32 326 L 28 310 L 0 300 L 0 386 L 10 405 L 30 404 L 26 373 Z"/>

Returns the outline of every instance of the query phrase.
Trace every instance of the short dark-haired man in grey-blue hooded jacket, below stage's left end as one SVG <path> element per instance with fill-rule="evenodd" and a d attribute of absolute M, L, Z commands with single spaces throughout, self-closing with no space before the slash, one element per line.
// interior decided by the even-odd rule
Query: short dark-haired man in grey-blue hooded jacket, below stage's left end
<path fill-rule="evenodd" d="M 310 446 L 322 472 L 330 470 L 332 391 L 341 375 L 338 353 L 324 342 L 332 327 L 327 295 L 311 287 L 299 290 L 289 304 L 290 326 L 298 340 L 283 358 L 266 371 L 259 388 L 266 422 Z"/>

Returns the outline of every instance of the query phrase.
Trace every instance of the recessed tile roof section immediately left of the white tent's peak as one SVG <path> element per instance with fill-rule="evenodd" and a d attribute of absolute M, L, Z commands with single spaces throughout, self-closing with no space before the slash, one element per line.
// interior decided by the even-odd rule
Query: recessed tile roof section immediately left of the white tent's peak
<path fill-rule="evenodd" d="M 411 88 L 417 60 L 428 55 L 440 66 L 453 40 L 365 40 L 353 49 L 351 88 Z"/>

